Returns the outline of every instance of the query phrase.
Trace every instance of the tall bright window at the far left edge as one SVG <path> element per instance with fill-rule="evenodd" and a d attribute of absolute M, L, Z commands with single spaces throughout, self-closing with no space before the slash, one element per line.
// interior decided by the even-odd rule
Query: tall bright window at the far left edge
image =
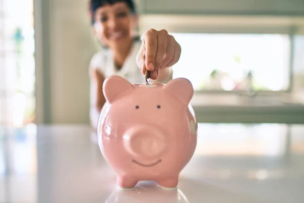
<path fill-rule="evenodd" d="M 0 0 L 0 124 L 34 120 L 34 86 L 33 2 Z"/>

